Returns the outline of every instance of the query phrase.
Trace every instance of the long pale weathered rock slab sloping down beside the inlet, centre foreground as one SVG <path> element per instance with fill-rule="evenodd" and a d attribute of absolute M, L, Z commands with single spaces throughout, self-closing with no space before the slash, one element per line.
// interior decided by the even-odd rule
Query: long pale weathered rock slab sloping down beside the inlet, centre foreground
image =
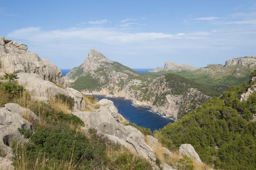
<path fill-rule="evenodd" d="M 106 100 L 102 99 L 98 102 L 101 104 L 99 112 L 77 112 L 73 114 L 84 122 L 85 129 L 93 127 L 105 134 L 112 142 L 119 143 L 139 156 L 155 162 L 156 156 L 154 151 L 145 143 L 144 135 L 135 127 L 120 124 L 113 117 L 112 110 L 115 109 L 109 109 L 112 102 Z"/>

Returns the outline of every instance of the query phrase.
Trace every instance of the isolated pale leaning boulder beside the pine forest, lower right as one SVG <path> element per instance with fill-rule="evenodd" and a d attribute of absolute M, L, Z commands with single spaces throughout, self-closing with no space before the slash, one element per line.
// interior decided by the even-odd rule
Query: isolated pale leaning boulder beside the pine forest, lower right
<path fill-rule="evenodd" d="M 200 157 L 198 156 L 198 153 L 196 153 L 194 147 L 192 147 L 191 144 L 182 144 L 182 145 L 180 145 L 179 154 L 180 155 L 186 155 L 189 158 L 194 158 L 195 161 L 197 161 L 198 163 L 203 163 L 201 161 Z"/>

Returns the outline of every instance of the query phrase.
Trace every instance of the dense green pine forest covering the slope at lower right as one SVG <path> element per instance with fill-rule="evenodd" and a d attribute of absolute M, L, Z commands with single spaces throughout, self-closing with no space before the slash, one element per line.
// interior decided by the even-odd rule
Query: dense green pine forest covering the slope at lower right
<path fill-rule="evenodd" d="M 256 93 L 240 101 L 248 84 L 232 86 L 221 97 L 213 97 L 173 124 L 161 134 L 169 147 L 190 143 L 202 161 L 217 169 L 256 169 Z M 171 142 L 170 142 L 171 140 Z"/>

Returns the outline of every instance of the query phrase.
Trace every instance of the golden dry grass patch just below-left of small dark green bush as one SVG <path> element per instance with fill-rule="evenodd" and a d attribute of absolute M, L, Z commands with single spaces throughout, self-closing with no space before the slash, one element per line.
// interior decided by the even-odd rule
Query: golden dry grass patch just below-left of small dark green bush
<path fill-rule="evenodd" d="M 55 97 L 49 98 L 52 108 L 58 112 L 63 112 L 65 114 L 70 114 L 69 105 L 67 102 L 63 102 L 61 99 L 56 99 Z"/>

